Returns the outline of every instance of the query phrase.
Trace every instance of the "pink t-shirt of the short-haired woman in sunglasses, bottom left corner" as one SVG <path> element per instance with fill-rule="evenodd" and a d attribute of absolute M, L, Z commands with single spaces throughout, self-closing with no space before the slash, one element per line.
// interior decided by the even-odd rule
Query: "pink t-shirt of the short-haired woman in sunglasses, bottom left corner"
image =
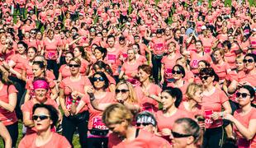
<path fill-rule="evenodd" d="M 64 137 L 59 135 L 58 133 L 52 132 L 52 136 L 50 141 L 45 143 L 43 146 L 36 146 L 36 137 L 37 134 L 33 133 L 31 135 L 26 135 L 21 139 L 19 144 L 19 148 L 47 148 L 47 147 L 55 147 L 55 148 L 71 148 L 69 141 Z"/>

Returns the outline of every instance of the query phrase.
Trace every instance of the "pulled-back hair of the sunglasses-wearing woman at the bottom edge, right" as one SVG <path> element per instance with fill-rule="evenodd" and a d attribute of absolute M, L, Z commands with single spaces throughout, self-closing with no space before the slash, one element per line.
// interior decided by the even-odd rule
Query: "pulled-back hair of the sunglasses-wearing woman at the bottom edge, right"
<path fill-rule="evenodd" d="M 175 123 L 183 127 L 183 132 L 185 132 L 184 134 L 194 137 L 193 143 L 196 146 L 201 146 L 202 131 L 195 120 L 192 118 L 178 118 Z"/>

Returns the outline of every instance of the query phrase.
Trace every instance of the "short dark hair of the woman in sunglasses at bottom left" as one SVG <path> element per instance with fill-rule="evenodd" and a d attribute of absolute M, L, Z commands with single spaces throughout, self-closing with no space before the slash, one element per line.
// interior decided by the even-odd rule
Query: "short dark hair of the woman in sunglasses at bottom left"
<path fill-rule="evenodd" d="M 52 124 L 50 125 L 50 127 L 55 127 L 56 123 L 58 122 L 59 120 L 59 112 L 57 109 L 55 109 L 55 107 L 53 107 L 52 105 L 50 104 L 35 104 L 33 106 L 33 110 L 32 110 L 32 113 L 34 114 L 36 109 L 38 108 L 44 108 L 44 109 L 47 109 L 49 114 L 50 114 L 50 119 L 52 120 Z"/>

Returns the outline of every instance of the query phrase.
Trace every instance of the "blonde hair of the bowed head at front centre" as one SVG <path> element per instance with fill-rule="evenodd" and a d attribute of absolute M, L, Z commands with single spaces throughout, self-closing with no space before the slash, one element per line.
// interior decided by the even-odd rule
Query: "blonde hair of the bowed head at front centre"
<path fill-rule="evenodd" d="M 123 104 L 111 104 L 107 107 L 107 109 L 104 110 L 102 114 L 102 122 L 105 123 L 107 127 L 112 124 L 118 124 L 125 121 L 129 125 L 132 120 L 132 113 Z"/>

